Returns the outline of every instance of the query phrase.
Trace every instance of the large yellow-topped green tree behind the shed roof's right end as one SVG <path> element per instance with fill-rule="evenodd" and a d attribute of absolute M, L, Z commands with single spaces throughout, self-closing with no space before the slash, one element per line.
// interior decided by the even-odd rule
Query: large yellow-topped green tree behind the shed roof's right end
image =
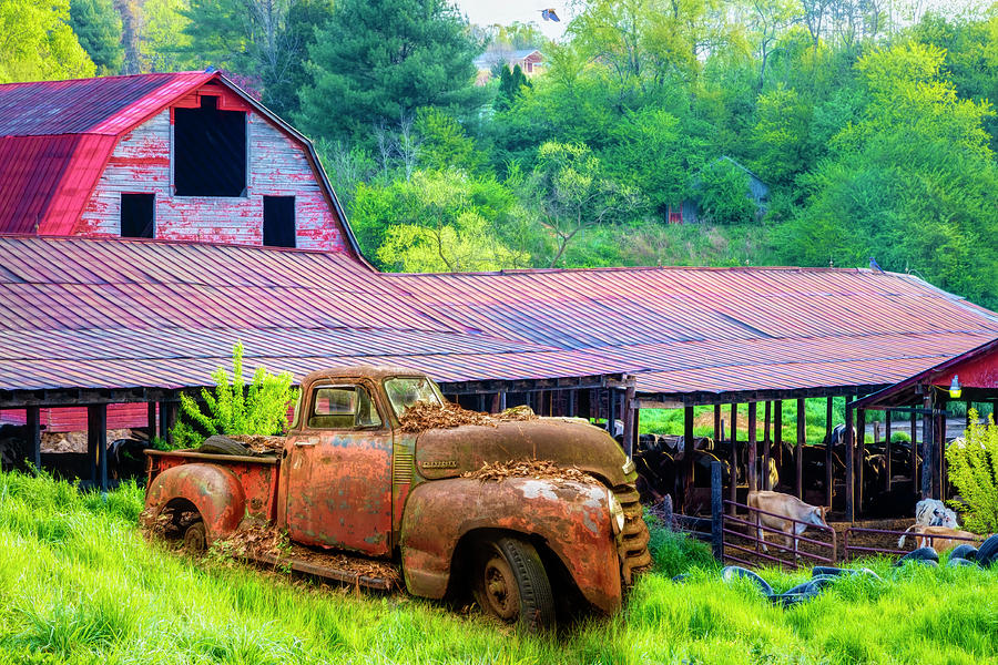
<path fill-rule="evenodd" d="M 998 303 L 998 172 L 984 120 L 961 100 L 945 54 L 918 43 L 860 58 L 862 108 L 798 183 L 805 207 L 783 229 L 785 259 L 912 272 Z"/>

